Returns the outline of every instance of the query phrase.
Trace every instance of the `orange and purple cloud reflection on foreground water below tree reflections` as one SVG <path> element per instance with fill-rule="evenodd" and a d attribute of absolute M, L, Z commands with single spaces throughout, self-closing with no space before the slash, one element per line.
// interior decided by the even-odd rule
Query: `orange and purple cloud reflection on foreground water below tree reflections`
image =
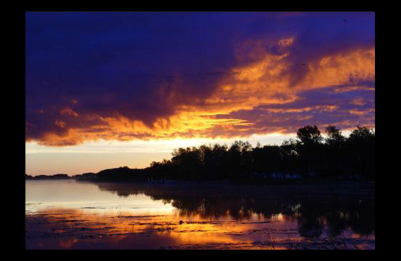
<path fill-rule="evenodd" d="M 229 212 L 205 217 L 179 210 L 135 215 L 135 211 L 47 209 L 26 215 L 27 248 L 286 249 L 305 244 L 321 242 L 301 237 L 296 222 L 283 214 L 251 213 L 246 219 L 234 219 Z M 369 242 L 354 245 L 365 248 Z M 335 242 L 328 246 L 345 247 Z"/>

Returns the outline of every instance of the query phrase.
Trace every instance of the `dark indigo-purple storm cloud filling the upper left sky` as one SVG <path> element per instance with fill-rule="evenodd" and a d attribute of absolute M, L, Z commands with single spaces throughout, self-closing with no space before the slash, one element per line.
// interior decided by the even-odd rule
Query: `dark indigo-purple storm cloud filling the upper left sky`
<path fill-rule="evenodd" d="M 234 68 L 263 62 L 267 54 L 289 54 L 280 60 L 285 65 L 281 74 L 288 76 L 288 87 L 297 88 L 305 79 L 320 84 L 310 83 L 316 66 L 309 64 L 369 48 L 374 50 L 373 13 L 27 13 L 26 138 L 57 145 L 55 137 L 69 139 L 71 130 L 80 130 L 80 137 L 62 145 L 93 137 L 157 138 L 151 133 L 157 120 L 167 119 L 156 125 L 171 128 L 177 124 L 170 117 L 178 113 L 185 117 L 176 120 L 198 121 L 188 118 L 192 111 L 210 115 L 208 99 L 216 97 L 222 84 L 238 82 Z M 261 79 L 270 84 L 269 77 Z M 371 79 L 359 79 L 358 84 L 366 85 L 364 81 L 374 87 Z M 238 102 L 226 106 L 249 109 L 235 92 L 227 95 L 225 100 Z M 304 95 L 306 103 L 320 98 L 308 95 Z M 66 108 L 72 112 L 60 112 Z M 215 107 L 213 111 L 216 114 Z M 248 115 L 252 118 L 252 110 Z M 273 124 L 269 118 L 261 122 Z M 218 127 L 214 123 L 202 132 L 207 135 L 208 129 Z M 178 134 L 197 132 L 188 128 Z"/>

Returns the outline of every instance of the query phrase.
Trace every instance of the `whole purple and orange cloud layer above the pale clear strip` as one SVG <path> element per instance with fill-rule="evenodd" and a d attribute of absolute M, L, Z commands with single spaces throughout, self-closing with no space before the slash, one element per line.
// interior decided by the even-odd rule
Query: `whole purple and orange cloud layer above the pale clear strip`
<path fill-rule="evenodd" d="M 153 36 L 149 33 L 155 30 L 153 25 L 144 29 L 149 32 L 140 35 L 141 39 L 138 36 L 139 40 L 127 37 L 119 31 L 121 28 L 116 29 L 118 34 L 115 35 L 106 32 L 110 38 L 88 32 L 100 38 L 99 42 L 110 41 L 112 52 L 96 49 L 96 52 L 88 51 L 71 60 L 63 53 L 60 60 L 65 62 L 59 63 L 60 68 L 37 71 L 38 56 L 35 54 L 42 49 L 34 38 L 36 31 L 31 31 L 35 25 L 29 25 L 27 44 L 33 47 L 28 47 L 27 51 L 27 142 L 68 146 L 99 139 L 232 138 L 289 133 L 305 124 L 374 125 L 375 49 L 371 40 L 374 27 L 367 33 L 358 33 L 361 40 L 350 38 L 348 35 L 353 28 L 344 28 L 336 20 L 341 15 L 333 14 L 327 18 L 327 23 L 332 26 L 333 35 L 338 35 L 331 39 L 334 45 L 319 38 L 319 32 L 313 33 L 316 24 L 308 24 L 308 17 L 316 19 L 316 23 L 321 21 L 319 14 L 230 14 L 228 22 L 220 27 L 216 28 L 215 23 L 202 25 L 205 32 L 212 32 L 210 35 L 185 31 L 184 25 L 178 25 L 169 16 L 157 18 L 155 14 L 138 14 L 138 20 L 133 15 L 123 16 L 135 23 L 142 23 L 140 17 L 156 22 L 160 19 L 163 23 L 155 22 L 160 28 L 179 27 L 189 39 L 197 41 L 185 42 L 176 31 L 166 29 L 164 32 L 160 28 L 161 33 Z M 203 17 L 202 14 L 194 16 Z M 363 17 L 371 17 L 371 14 L 349 16 L 355 18 L 357 26 L 366 28 Z M 111 17 L 120 21 L 120 18 Z M 200 26 L 190 16 L 178 17 L 188 20 L 192 26 Z M 236 17 L 254 21 L 251 25 L 258 22 L 266 26 L 261 26 L 264 30 L 249 29 L 248 32 L 232 23 Z M 28 21 L 33 18 L 35 15 L 29 15 Z M 59 22 L 58 19 L 63 18 L 70 21 L 64 14 L 51 19 Z M 91 19 L 102 21 L 88 15 L 88 21 Z M 286 25 L 285 21 L 299 23 L 293 23 L 295 26 L 291 30 L 273 29 L 272 25 L 281 22 Z M 306 29 L 299 30 L 298 24 Z M 125 26 L 122 28 L 127 32 L 133 30 L 131 24 Z M 77 35 L 83 39 L 88 37 Z M 115 40 L 119 37 L 128 39 L 130 45 Z M 338 39 L 345 44 L 341 45 Z M 156 40 L 161 44 L 156 44 Z M 183 47 L 177 49 L 174 41 Z M 64 48 L 79 54 L 80 49 L 74 49 L 77 48 L 74 44 Z M 155 48 L 148 50 L 149 46 Z M 91 48 L 92 45 L 88 45 L 87 49 Z M 203 56 L 194 51 L 202 52 L 202 48 L 207 49 Z M 143 56 L 142 49 L 148 50 L 148 56 Z M 52 56 L 52 51 L 45 53 L 50 57 L 47 59 L 58 59 Z M 81 61 L 77 68 L 73 67 L 74 59 Z M 65 63 L 74 69 L 68 71 Z M 56 76 L 49 77 L 50 72 Z M 78 83 L 79 87 L 71 87 Z M 51 89 L 52 84 L 59 86 L 54 88 L 60 88 L 63 95 L 42 97 L 42 88 Z M 37 104 L 41 104 L 40 107 Z"/>

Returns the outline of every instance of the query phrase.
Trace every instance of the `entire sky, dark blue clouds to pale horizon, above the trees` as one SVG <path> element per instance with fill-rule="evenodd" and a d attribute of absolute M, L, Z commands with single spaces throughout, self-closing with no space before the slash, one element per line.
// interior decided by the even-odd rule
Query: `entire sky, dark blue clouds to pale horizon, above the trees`
<path fill-rule="evenodd" d="M 26 173 L 374 128 L 374 13 L 26 13 Z"/>

